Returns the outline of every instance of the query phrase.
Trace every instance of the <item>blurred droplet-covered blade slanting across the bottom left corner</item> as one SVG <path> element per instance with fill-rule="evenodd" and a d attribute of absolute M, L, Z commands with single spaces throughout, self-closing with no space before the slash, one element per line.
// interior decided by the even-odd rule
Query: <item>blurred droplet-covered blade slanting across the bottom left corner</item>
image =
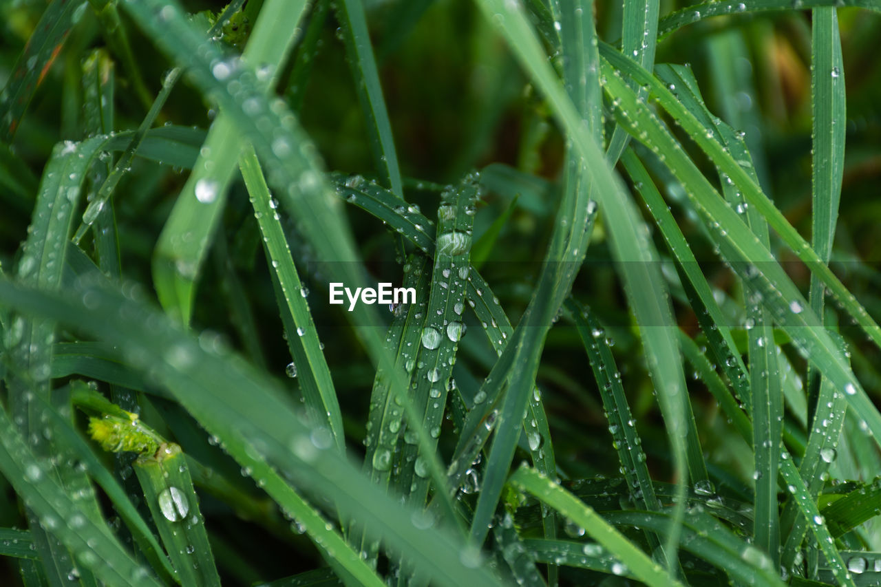
<path fill-rule="evenodd" d="M 155 585 L 147 568 L 134 561 L 116 541 L 100 517 L 84 511 L 56 480 L 48 464 L 38 459 L 13 428 L 0 405 L 0 471 L 21 495 L 41 524 L 64 546 L 77 554 L 77 561 L 107 584 Z M 67 568 L 72 573 L 72 567 Z M 82 573 L 82 571 L 80 571 Z M 76 576 L 74 576 L 76 578 Z M 68 581 L 65 573 L 64 579 Z"/>

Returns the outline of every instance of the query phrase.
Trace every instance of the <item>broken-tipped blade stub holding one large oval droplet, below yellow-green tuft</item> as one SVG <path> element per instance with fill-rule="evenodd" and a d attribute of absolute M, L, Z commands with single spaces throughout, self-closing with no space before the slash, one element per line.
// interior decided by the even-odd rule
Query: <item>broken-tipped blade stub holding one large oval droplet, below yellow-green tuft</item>
<path fill-rule="evenodd" d="M 134 468 L 181 583 L 219 585 L 204 516 L 181 447 L 164 442 L 154 454 L 138 457 Z"/>

